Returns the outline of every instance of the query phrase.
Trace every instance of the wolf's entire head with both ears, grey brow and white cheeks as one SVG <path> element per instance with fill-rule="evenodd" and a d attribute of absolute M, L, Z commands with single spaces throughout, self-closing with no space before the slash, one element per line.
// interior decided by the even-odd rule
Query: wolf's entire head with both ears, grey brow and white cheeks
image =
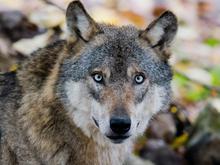
<path fill-rule="evenodd" d="M 74 123 L 89 137 L 113 143 L 143 133 L 170 103 L 169 46 L 177 19 L 169 11 L 147 29 L 96 23 L 79 1 L 66 13 L 68 53 L 58 94 Z"/>

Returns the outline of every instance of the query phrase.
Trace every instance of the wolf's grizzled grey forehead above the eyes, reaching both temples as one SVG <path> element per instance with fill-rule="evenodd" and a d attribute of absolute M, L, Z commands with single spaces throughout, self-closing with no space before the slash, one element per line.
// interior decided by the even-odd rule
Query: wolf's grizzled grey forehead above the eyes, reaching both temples
<path fill-rule="evenodd" d="M 79 56 L 64 60 L 62 72 L 80 81 L 96 68 L 109 68 L 112 76 L 124 77 L 133 65 L 144 72 L 149 81 L 164 84 L 172 79 L 167 61 L 157 58 L 147 41 L 141 44 L 140 31 L 133 26 L 100 26 L 102 33 L 86 43 Z M 71 53 L 71 52 L 69 52 Z"/>

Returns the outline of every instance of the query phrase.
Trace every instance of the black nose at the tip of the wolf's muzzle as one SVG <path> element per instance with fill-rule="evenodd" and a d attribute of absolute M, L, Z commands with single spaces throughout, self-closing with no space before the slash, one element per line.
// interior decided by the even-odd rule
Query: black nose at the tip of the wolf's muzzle
<path fill-rule="evenodd" d="M 130 130 L 131 127 L 131 119 L 120 118 L 120 117 L 112 117 L 110 119 L 110 128 L 116 134 L 125 134 Z"/>

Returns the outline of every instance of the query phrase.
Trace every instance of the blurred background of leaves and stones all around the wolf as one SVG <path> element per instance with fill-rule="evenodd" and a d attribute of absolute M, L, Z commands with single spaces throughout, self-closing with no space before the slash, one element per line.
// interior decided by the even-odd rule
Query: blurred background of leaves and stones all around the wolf
<path fill-rule="evenodd" d="M 65 38 L 71 0 L 0 0 L 0 74 Z M 141 29 L 173 11 L 173 103 L 151 121 L 134 153 L 155 165 L 220 165 L 220 1 L 81 0 L 98 22 Z"/>

